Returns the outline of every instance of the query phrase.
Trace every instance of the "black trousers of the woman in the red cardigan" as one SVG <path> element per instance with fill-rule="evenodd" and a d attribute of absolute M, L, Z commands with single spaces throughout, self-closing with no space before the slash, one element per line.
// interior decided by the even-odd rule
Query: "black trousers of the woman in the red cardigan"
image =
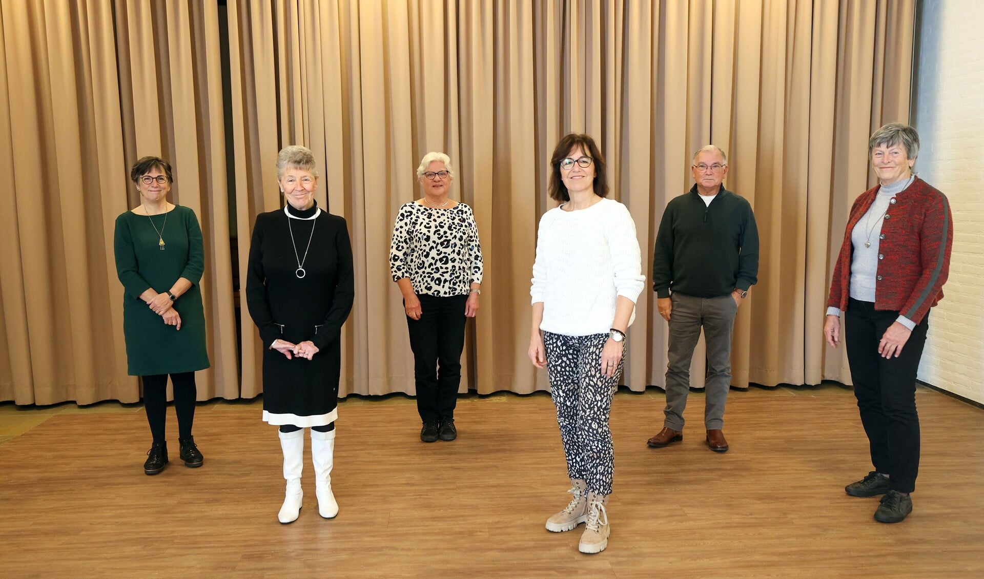
<path fill-rule="evenodd" d="M 893 490 L 913 492 L 919 474 L 916 373 L 929 314 L 916 324 L 901 355 L 885 359 L 878 353 L 878 343 L 895 318 L 898 312 L 876 311 L 874 303 L 852 298 L 844 313 L 844 340 L 872 464 L 877 472 L 890 476 Z"/>

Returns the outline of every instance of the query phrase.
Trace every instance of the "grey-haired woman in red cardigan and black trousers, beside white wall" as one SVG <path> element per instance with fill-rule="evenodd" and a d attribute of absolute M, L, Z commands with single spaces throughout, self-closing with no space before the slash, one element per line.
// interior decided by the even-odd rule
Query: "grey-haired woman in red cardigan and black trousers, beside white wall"
<path fill-rule="evenodd" d="M 879 185 L 851 207 L 840 247 L 824 335 L 840 344 L 844 314 L 847 362 L 875 470 L 844 488 L 884 494 L 875 520 L 897 523 L 912 512 L 919 471 L 915 382 L 929 309 L 943 299 L 953 218 L 947 198 L 912 174 L 919 135 L 888 124 L 868 142 Z"/>

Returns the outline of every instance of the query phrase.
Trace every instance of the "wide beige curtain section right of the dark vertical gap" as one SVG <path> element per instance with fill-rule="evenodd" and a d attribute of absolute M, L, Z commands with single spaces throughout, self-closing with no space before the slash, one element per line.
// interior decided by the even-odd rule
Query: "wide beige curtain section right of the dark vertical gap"
<path fill-rule="evenodd" d="M 553 206 L 547 161 L 570 131 L 602 145 L 645 269 L 665 203 L 692 184 L 692 152 L 727 150 L 727 185 L 754 204 L 763 242 L 760 283 L 736 323 L 733 383 L 849 379 L 822 341 L 830 262 L 869 179 L 867 135 L 907 119 L 914 2 L 274 4 L 243 7 L 269 23 L 243 26 L 247 41 L 277 38 L 276 57 L 254 73 L 270 80 L 258 87 L 276 82 L 278 108 L 253 120 L 276 124 L 281 144 L 324 154 L 329 206 L 349 220 L 358 291 L 343 393 L 413 392 L 386 258 L 397 207 L 419 196 L 413 169 L 432 149 L 457 165 L 486 259 L 461 389 L 547 387 L 525 356 L 528 278 L 537 219 Z M 277 206 L 267 183 L 263 199 Z M 646 291 L 630 332 L 624 382 L 636 390 L 663 384 L 666 326 L 651 302 Z M 244 393 L 259 391 L 245 376 Z"/>

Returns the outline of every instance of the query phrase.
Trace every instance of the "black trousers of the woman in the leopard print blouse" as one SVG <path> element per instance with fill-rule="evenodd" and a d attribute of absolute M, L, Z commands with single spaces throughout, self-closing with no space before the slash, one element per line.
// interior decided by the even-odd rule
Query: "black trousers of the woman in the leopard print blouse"
<path fill-rule="evenodd" d="M 413 350 L 413 377 L 417 412 L 423 422 L 455 418 L 461 385 L 461 350 L 464 349 L 464 303 L 467 295 L 420 299 L 420 319 L 406 317 Z"/>

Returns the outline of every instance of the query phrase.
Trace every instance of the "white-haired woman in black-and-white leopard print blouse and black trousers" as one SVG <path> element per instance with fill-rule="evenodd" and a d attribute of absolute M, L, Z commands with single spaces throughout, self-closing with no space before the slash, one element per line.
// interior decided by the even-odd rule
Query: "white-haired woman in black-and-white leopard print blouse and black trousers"
<path fill-rule="evenodd" d="M 471 207 L 448 199 L 454 179 L 448 155 L 424 155 L 417 167 L 424 195 L 400 206 L 390 245 L 390 270 L 403 294 L 413 350 L 424 442 L 458 436 L 464 319 L 474 318 L 481 293 L 478 228 Z"/>

